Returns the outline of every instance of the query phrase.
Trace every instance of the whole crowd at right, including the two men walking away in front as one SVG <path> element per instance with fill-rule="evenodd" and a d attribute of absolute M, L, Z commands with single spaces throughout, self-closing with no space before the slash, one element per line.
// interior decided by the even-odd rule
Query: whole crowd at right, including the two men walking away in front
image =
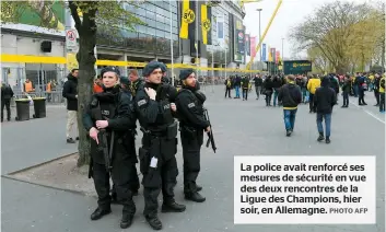
<path fill-rule="evenodd" d="M 339 76 L 336 73 L 319 77 L 317 74 L 307 77 L 296 76 L 264 76 L 229 77 L 225 81 L 225 98 L 241 98 L 239 90 L 243 90 L 243 101 L 247 101 L 252 83 L 255 85 L 256 100 L 265 95 L 266 106 L 283 106 L 284 125 L 286 136 L 293 132 L 297 105 L 301 103 L 309 105 L 309 113 L 316 113 L 316 124 L 319 132 L 318 141 L 326 140 L 330 143 L 331 113 L 338 104 L 339 94 L 342 95 L 342 108 L 349 107 L 349 96 L 358 97 L 358 105 L 367 105 L 364 101 L 365 92 L 374 92 L 379 113 L 385 113 L 385 74 L 381 73 L 355 73 L 353 76 Z M 273 97 L 272 97 L 273 96 Z M 326 132 L 324 132 L 323 120 L 325 120 Z M 326 136 L 326 137 L 325 137 Z"/>

